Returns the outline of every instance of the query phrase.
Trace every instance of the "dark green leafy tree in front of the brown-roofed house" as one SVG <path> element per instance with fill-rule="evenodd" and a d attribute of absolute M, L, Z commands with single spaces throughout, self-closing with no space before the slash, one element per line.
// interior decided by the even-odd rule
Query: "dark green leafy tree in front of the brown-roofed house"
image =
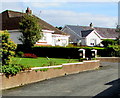
<path fill-rule="evenodd" d="M 35 16 L 26 14 L 23 16 L 20 24 L 20 31 L 22 35 L 19 40 L 27 48 L 31 48 L 34 44 L 42 38 L 42 30 L 38 24 L 38 19 Z"/>

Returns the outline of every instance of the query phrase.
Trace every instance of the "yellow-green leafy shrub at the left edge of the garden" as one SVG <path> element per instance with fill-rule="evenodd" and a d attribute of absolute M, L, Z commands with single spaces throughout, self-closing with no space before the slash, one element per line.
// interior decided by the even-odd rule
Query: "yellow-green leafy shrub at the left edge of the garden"
<path fill-rule="evenodd" d="M 17 45 L 9 38 L 8 31 L 2 31 L 0 38 L 2 39 L 2 65 L 9 65 L 11 57 L 15 55 Z"/>

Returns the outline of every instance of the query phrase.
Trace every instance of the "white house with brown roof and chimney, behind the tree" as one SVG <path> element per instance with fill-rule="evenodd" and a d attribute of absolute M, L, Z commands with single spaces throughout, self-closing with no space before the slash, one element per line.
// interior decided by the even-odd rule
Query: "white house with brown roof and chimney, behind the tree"
<path fill-rule="evenodd" d="M 32 11 L 30 8 L 26 10 L 27 14 L 32 15 Z M 19 31 L 19 22 L 21 21 L 24 14 L 22 12 L 16 12 L 11 10 L 6 10 L 0 14 L 2 17 L 2 22 L 0 22 L 1 28 L 0 30 L 8 30 L 10 33 L 10 38 L 16 44 L 22 44 L 18 39 L 21 35 Z M 33 15 L 34 17 L 38 18 L 37 16 Z M 45 22 L 44 20 L 38 18 L 38 23 L 42 28 L 43 38 L 36 42 L 35 45 L 42 45 L 42 46 L 67 46 L 69 41 L 69 35 L 60 31 L 59 29 L 53 27 L 49 23 Z"/>

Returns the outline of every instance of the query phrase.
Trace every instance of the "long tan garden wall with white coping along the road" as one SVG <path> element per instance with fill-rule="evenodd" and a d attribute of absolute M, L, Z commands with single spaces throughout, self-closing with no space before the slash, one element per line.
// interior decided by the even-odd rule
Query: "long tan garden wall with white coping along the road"
<path fill-rule="evenodd" d="M 29 71 L 20 72 L 15 76 L 7 78 L 4 74 L 0 75 L 2 79 L 2 90 L 9 89 L 29 83 L 34 83 L 50 78 L 60 77 L 68 74 L 75 74 L 82 71 L 94 70 L 100 66 L 99 60 L 83 61 L 79 63 L 68 63 L 51 67 L 36 67 Z M 62 67 L 62 68 L 58 68 Z M 35 71 L 36 69 L 48 68 L 47 71 Z M 0 80 L 1 81 L 1 80 Z"/>

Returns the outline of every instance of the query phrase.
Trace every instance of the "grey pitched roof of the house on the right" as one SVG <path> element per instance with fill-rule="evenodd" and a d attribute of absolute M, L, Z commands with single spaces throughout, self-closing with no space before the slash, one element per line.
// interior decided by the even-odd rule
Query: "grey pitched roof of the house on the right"
<path fill-rule="evenodd" d="M 103 38 L 116 38 L 120 35 L 119 32 L 116 32 L 116 29 L 113 28 L 101 28 L 94 27 L 91 28 L 89 26 L 76 26 L 76 25 L 67 25 L 71 30 L 76 33 L 81 32 L 82 37 L 86 37 L 92 30 L 96 30 L 96 32 Z"/>

